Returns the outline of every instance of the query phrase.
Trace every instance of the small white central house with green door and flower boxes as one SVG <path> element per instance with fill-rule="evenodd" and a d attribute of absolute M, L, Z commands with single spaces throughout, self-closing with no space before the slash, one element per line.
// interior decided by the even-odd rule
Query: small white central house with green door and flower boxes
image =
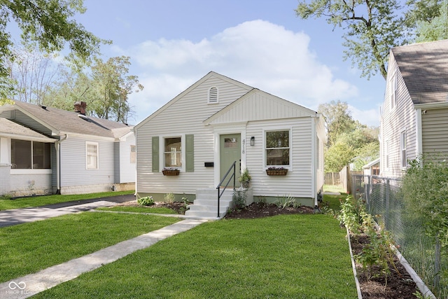
<path fill-rule="evenodd" d="M 138 197 L 163 200 L 174 193 L 177 200 L 193 200 L 208 190 L 216 202 L 216 187 L 237 161 L 237 176 L 246 168 L 251 175 L 255 201 L 290 195 L 307 206 L 318 204 L 325 127 L 318 113 L 303 106 L 211 71 L 134 132 Z M 288 173 L 268 176 L 269 167 Z M 164 168 L 179 169 L 179 176 L 164 176 Z"/>

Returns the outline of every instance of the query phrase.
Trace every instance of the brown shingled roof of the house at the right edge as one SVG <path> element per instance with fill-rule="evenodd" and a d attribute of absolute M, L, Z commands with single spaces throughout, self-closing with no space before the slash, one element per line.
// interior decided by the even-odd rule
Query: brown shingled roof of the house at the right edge
<path fill-rule="evenodd" d="M 448 39 L 391 51 L 414 104 L 448 102 Z"/>

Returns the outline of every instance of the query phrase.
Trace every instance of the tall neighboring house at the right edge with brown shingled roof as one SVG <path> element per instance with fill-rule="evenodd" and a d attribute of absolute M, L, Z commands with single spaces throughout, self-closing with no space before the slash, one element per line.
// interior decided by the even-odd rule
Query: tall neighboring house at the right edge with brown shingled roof
<path fill-rule="evenodd" d="M 382 176 L 409 160 L 448 158 L 448 40 L 391 49 L 380 120 Z"/>

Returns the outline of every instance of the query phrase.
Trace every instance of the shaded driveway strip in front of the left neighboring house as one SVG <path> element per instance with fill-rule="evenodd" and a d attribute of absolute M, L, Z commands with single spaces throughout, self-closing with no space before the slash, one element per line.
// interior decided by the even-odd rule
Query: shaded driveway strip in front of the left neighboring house
<path fill-rule="evenodd" d="M 89 211 L 92 209 L 97 209 L 98 207 L 111 207 L 120 202 L 128 202 L 134 199 L 134 195 L 118 195 L 91 200 L 78 200 L 73 202 L 48 204 L 41 207 L 4 210 L 0 211 L 0 228 L 57 217 L 64 214 Z"/>

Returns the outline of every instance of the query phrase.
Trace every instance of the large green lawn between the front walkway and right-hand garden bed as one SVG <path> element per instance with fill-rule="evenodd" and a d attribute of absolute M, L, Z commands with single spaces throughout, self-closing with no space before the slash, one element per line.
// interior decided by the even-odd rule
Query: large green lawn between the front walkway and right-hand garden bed
<path fill-rule="evenodd" d="M 36 298 L 357 298 L 345 230 L 323 214 L 204 223 Z"/>

